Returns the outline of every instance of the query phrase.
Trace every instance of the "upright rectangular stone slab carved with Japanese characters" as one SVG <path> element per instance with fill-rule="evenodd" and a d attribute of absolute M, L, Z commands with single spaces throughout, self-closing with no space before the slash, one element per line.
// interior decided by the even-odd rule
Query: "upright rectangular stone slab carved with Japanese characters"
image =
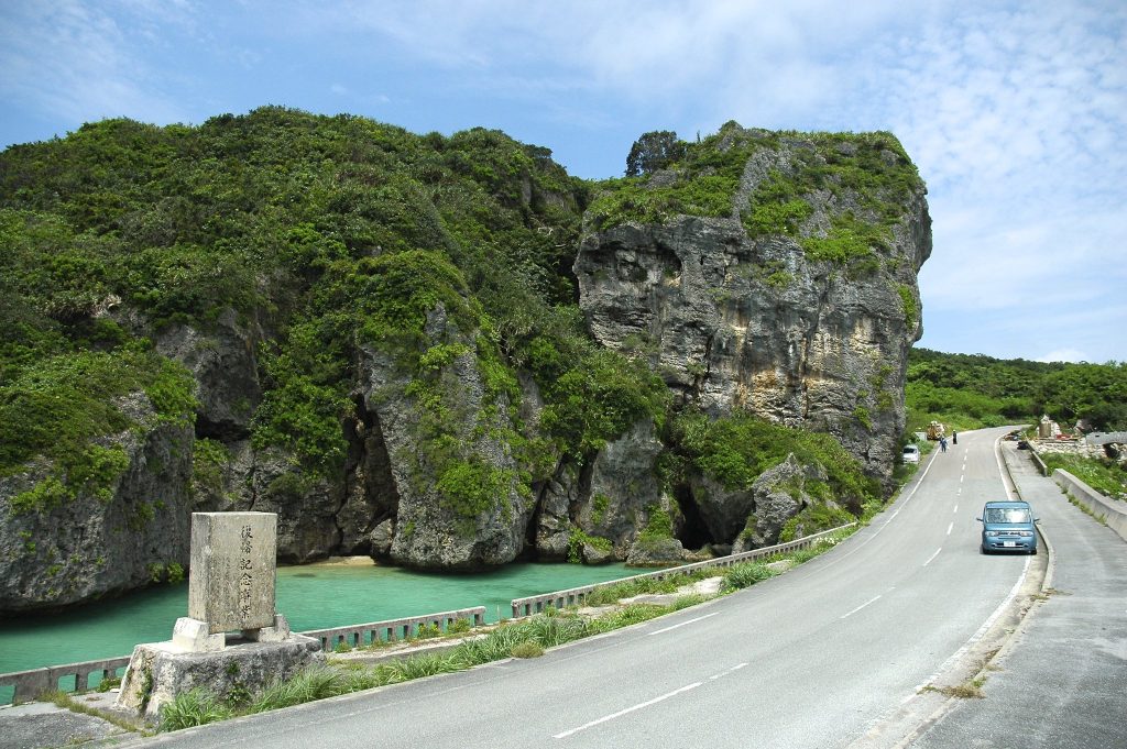
<path fill-rule="evenodd" d="M 207 631 L 274 625 L 277 515 L 194 512 L 188 616 Z"/>

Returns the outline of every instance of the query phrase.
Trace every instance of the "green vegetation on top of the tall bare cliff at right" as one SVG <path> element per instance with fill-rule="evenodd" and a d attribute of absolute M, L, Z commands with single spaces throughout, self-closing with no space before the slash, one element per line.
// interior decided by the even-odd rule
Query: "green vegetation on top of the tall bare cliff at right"
<path fill-rule="evenodd" d="M 647 133 L 631 151 L 628 177 L 606 180 L 591 204 L 596 229 L 625 222 L 665 223 L 678 215 L 739 215 L 752 239 L 771 235 L 798 241 L 815 261 L 845 264 L 891 244 L 891 228 L 911 195 L 923 187 L 915 167 L 891 133 L 793 133 L 744 130 L 727 123 L 694 143 L 673 148 L 659 140 L 647 160 Z M 771 168 L 746 205 L 736 205 L 748 159 L 757 151 L 793 152 Z M 658 172 L 659 173 L 655 173 Z M 829 226 L 807 225 L 818 196 L 842 206 Z"/>

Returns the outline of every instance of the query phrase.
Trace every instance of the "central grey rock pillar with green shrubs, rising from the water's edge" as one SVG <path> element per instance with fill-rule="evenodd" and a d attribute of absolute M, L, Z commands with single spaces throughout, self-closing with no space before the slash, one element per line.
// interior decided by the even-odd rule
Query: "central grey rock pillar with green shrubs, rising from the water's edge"
<path fill-rule="evenodd" d="M 372 445 L 376 460 L 388 458 L 390 556 L 398 564 L 481 569 L 511 562 L 524 547 L 532 507 L 502 438 L 513 434 L 508 404 L 487 387 L 474 336 L 447 320 L 442 305 L 432 311 L 425 340 L 427 350 L 442 349 L 442 363 L 425 394 L 396 356 L 363 349 L 362 402 L 382 436 Z"/>

